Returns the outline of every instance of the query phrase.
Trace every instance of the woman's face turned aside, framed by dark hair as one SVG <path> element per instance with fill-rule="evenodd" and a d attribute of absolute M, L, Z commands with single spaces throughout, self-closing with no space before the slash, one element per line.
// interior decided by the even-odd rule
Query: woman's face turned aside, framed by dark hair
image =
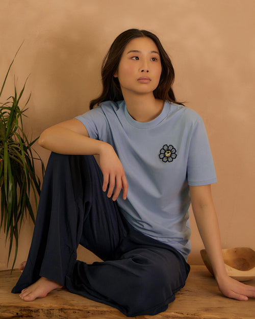
<path fill-rule="evenodd" d="M 127 43 L 121 56 L 118 78 L 125 94 L 153 94 L 161 76 L 161 61 L 157 45 L 147 37 L 135 38 Z"/>

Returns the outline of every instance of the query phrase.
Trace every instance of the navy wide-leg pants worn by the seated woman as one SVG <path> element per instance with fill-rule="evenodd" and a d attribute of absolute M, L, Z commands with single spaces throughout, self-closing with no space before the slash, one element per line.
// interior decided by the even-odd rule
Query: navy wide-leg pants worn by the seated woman
<path fill-rule="evenodd" d="M 190 267 L 127 223 L 102 185 L 93 156 L 50 155 L 27 264 L 12 292 L 45 277 L 126 316 L 165 311 Z M 104 261 L 77 260 L 79 243 Z"/>

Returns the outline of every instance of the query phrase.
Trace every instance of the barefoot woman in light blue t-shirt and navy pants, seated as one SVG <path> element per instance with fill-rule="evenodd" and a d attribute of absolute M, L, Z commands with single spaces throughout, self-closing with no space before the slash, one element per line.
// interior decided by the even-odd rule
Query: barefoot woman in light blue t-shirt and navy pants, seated
<path fill-rule="evenodd" d="M 175 100 L 174 70 L 159 39 L 144 30 L 121 33 L 101 73 L 103 92 L 91 110 L 40 136 L 54 153 L 13 292 L 23 289 L 20 298 L 32 301 L 65 286 L 127 316 L 164 311 L 189 273 L 192 203 L 220 291 L 255 297 L 254 287 L 226 274 L 205 127 Z M 79 243 L 104 261 L 77 261 Z"/>

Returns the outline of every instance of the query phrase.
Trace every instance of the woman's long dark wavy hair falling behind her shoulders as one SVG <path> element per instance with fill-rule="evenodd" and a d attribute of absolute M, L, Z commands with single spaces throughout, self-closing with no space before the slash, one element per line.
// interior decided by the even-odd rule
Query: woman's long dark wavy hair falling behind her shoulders
<path fill-rule="evenodd" d="M 90 109 L 93 109 L 94 106 L 104 101 L 117 102 L 123 100 L 119 80 L 118 78 L 114 77 L 114 73 L 118 69 L 120 58 L 127 43 L 129 43 L 132 39 L 140 37 L 148 37 L 153 40 L 160 53 L 162 72 L 159 85 L 153 91 L 155 99 L 161 99 L 163 101 L 169 101 L 183 105 L 175 100 L 172 89 L 174 81 L 173 65 L 159 38 L 155 34 L 146 30 L 129 29 L 117 36 L 103 60 L 103 64 L 101 66 L 103 91 L 100 96 L 90 101 Z"/>

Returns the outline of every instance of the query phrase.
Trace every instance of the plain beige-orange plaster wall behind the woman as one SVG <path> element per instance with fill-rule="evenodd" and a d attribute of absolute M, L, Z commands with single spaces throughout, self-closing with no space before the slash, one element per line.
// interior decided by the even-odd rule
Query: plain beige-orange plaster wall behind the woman
<path fill-rule="evenodd" d="M 30 75 L 24 124 L 36 137 L 88 110 L 100 92 L 101 60 L 120 32 L 156 33 L 175 68 L 177 98 L 207 127 L 222 247 L 255 249 L 254 16 L 253 0 L 0 0 L 0 83 L 24 41 L 3 97 L 12 94 L 14 75 L 19 88 Z M 49 152 L 38 145 L 36 150 L 46 163 Z M 199 264 L 203 245 L 192 214 L 191 224 L 189 261 Z M 33 223 L 25 222 L 16 266 L 27 258 L 32 233 Z M 3 232 L 0 249 L 0 269 L 6 269 Z"/>

